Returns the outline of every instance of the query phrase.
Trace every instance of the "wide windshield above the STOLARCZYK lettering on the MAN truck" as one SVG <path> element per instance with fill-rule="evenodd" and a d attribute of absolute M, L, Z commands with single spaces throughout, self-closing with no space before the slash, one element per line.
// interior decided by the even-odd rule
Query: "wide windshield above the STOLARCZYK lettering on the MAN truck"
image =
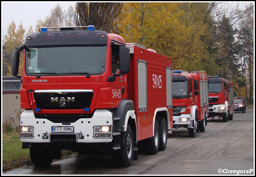
<path fill-rule="evenodd" d="M 27 47 L 26 73 L 58 76 L 79 73 L 100 75 L 104 73 L 106 67 L 106 48 L 106 46 Z"/>

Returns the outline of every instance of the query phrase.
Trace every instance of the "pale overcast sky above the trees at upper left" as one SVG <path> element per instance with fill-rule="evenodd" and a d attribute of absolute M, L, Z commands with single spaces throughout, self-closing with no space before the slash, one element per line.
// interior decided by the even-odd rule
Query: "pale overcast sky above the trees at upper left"
<path fill-rule="evenodd" d="M 71 5 L 74 6 L 74 1 L 1 1 L 1 28 L 2 34 L 6 34 L 8 25 L 12 19 L 16 23 L 16 27 L 22 25 L 27 31 L 31 25 L 35 29 L 36 20 L 44 20 L 57 4 L 63 7 L 63 10 Z"/>

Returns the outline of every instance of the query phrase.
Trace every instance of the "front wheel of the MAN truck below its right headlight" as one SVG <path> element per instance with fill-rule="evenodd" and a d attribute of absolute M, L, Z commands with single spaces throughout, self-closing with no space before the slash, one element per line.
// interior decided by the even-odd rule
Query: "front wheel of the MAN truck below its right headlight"
<path fill-rule="evenodd" d="M 112 159 L 116 166 L 129 167 L 133 158 L 134 140 L 132 128 L 127 125 L 125 132 L 121 133 L 121 148 L 112 150 Z"/>

